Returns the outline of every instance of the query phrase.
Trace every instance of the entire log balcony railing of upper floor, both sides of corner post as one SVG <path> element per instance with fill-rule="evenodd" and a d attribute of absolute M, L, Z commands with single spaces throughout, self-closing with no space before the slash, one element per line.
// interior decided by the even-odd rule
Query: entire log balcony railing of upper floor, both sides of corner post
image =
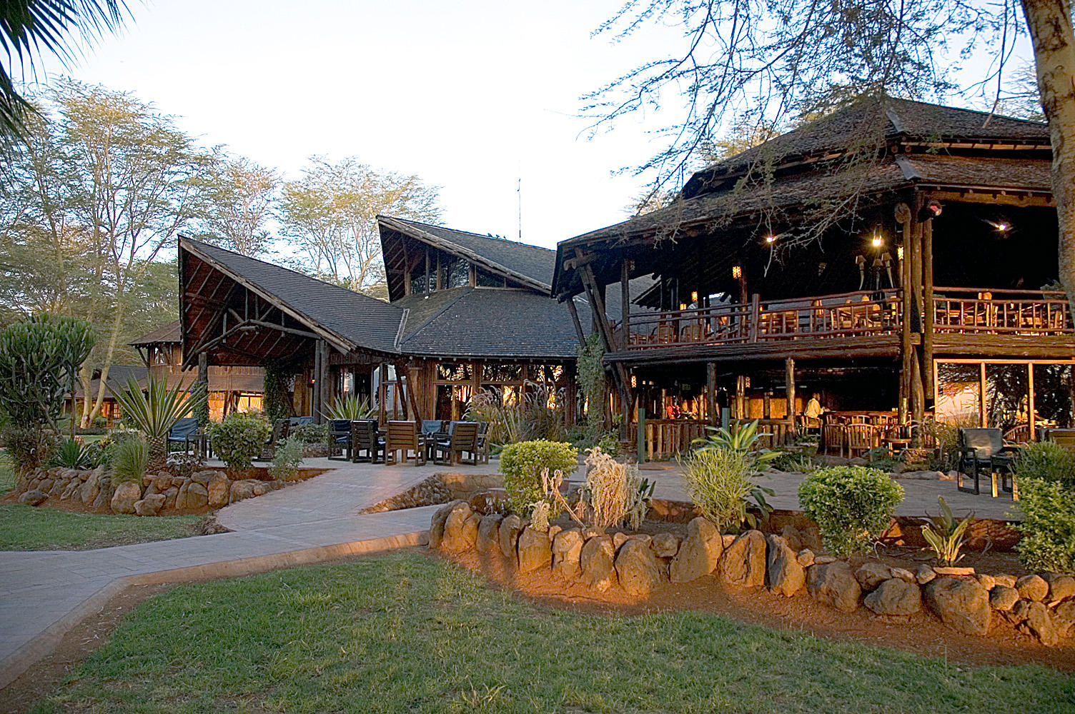
<path fill-rule="evenodd" d="M 900 334 L 901 291 L 856 291 L 632 315 L 627 349 L 741 345 Z M 934 332 L 1075 334 L 1061 292 L 935 288 Z"/>

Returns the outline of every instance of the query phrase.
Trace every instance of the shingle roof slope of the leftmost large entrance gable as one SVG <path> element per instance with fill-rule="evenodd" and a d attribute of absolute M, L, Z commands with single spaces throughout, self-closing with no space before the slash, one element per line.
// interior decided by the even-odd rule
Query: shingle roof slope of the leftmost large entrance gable
<path fill-rule="evenodd" d="M 312 323 L 343 337 L 353 347 L 398 352 L 396 334 L 403 319 L 400 307 L 207 243 L 184 241 L 228 272 L 286 303 Z"/>

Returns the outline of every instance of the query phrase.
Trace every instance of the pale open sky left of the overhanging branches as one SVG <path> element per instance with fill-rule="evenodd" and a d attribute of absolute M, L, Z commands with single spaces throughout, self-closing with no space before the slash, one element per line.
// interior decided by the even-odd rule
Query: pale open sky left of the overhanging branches
<path fill-rule="evenodd" d="M 646 179 L 617 170 L 657 148 L 642 116 L 588 141 L 579 97 L 682 45 L 670 27 L 591 38 L 619 0 L 129 2 L 118 35 L 38 79 L 131 91 L 289 176 L 312 155 L 417 174 L 445 225 L 517 239 L 521 208 L 547 247 L 626 219 Z"/>

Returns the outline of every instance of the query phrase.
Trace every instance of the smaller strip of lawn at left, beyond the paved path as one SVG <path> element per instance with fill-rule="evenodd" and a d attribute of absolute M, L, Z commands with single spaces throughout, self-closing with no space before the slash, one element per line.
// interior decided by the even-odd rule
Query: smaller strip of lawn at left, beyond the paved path
<path fill-rule="evenodd" d="M 85 551 L 201 533 L 203 515 L 142 518 L 0 504 L 0 551 Z"/>

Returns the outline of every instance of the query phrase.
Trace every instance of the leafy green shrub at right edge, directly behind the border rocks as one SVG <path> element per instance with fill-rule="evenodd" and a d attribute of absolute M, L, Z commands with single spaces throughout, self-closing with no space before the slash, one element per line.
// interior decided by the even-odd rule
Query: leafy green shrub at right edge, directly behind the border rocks
<path fill-rule="evenodd" d="M 1075 487 L 1020 478 L 1018 507 L 1019 559 L 1031 570 L 1075 573 Z"/>

